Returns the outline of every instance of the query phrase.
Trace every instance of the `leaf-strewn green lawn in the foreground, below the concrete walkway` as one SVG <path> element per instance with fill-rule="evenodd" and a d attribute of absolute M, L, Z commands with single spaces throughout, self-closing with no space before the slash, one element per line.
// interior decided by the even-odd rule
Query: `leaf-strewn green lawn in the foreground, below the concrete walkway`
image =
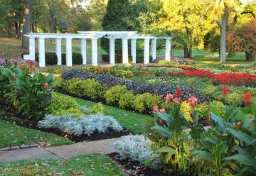
<path fill-rule="evenodd" d="M 69 160 L 21 160 L 0 163 L 0 175 L 124 175 L 105 155 L 80 155 Z"/>

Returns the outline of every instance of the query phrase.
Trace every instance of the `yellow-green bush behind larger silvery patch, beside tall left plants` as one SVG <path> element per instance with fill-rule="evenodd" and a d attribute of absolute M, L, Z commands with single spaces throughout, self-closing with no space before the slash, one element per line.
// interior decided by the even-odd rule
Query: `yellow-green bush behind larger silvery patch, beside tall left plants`
<path fill-rule="evenodd" d="M 53 94 L 53 102 L 48 107 L 48 113 L 54 116 L 73 114 L 76 117 L 83 114 L 82 108 L 75 99 L 55 93 Z"/>

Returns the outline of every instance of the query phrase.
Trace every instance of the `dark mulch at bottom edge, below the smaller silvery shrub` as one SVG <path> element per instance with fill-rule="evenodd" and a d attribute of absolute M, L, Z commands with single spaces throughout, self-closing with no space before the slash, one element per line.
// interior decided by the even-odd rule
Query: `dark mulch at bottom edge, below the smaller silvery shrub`
<path fill-rule="evenodd" d="M 139 175 L 139 176 L 178 176 L 176 172 L 164 173 L 164 170 L 151 170 L 149 167 L 139 165 L 139 162 L 132 160 L 120 160 L 118 153 L 110 153 L 108 156 L 112 158 L 114 163 L 124 168 L 124 172 L 127 175 Z"/>

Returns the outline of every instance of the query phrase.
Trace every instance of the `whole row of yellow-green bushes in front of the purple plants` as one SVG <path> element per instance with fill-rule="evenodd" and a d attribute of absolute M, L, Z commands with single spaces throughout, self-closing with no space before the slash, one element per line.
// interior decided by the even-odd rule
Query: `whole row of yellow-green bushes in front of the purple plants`
<path fill-rule="evenodd" d="M 60 92 L 73 94 L 94 101 L 102 101 L 105 104 L 129 109 L 139 113 L 149 114 L 154 105 L 164 104 L 163 97 L 150 93 L 134 95 L 126 86 L 107 87 L 95 79 L 81 80 L 79 78 L 63 81 L 61 77 L 55 79 L 55 89 Z M 163 105 L 164 106 L 164 105 Z"/>

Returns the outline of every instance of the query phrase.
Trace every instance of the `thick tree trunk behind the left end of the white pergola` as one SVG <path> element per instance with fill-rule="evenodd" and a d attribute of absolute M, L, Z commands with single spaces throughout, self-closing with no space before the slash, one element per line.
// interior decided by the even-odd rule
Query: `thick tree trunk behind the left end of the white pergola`
<path fill-rule="evenodd" d="M 23 34 L 31 32 L 32 0 L 24 0 Z M 28 37 L 23 36 L 22 47 L 28 48 Z"/>

